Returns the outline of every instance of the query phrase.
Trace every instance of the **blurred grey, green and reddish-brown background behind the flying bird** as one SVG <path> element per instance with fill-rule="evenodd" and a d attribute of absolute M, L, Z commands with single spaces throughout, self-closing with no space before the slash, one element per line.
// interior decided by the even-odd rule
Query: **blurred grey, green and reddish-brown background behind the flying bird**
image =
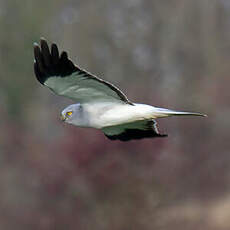
<path fill-rule="evenodd" d="M 1 0 L 0 31 L 0 229 L 230 229 L 229 0 Z M 127 143 L 64 124 L 40 37 L 131 101 L 208 117 Z"/>

